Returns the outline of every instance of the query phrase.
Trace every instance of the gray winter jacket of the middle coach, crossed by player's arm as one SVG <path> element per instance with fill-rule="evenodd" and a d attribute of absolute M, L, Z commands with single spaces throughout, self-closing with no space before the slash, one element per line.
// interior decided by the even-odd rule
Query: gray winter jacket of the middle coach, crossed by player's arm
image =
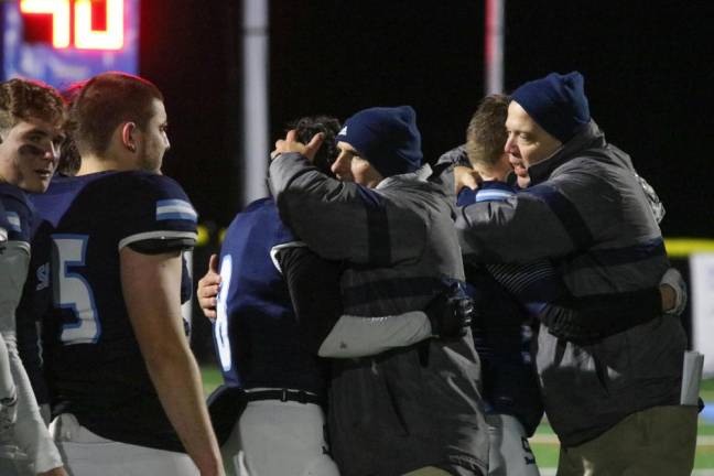
<path fill-rule="evenodd" d="M 299 154 L 272 162 L 281 218 L 316 253 L 347 262 L 346 314 L 422 310 L 447 282 L 463 280 L 453 176 L 430 175 L 426 165 L 368 190 L 327 177 Z M 431 465 L 485 475 L 479 372 L 470 335 L 337 360 L 329 429 L 342 474 L 393 476 Z"/>

